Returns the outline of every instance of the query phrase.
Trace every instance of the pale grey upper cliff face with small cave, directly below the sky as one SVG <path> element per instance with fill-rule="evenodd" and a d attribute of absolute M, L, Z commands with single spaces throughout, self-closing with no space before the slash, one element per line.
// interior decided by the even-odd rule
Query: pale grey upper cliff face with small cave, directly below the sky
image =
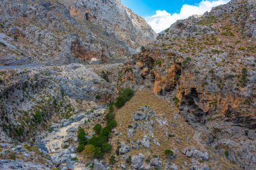
<path fill-rule="evenodd" d="M 155 32 L 146 24 L 145 19 L 125 7 L 120 0 L 59 2 L 68 7 L 73 17 L 100 24 L 108 34 L 114 34 L 133 49 L 156 38 Z"/>

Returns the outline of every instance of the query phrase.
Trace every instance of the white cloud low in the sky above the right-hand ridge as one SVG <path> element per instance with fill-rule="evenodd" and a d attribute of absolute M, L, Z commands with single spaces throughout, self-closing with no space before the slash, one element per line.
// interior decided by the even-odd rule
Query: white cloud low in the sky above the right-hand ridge
<path fill-rule="evenodd" d="M 228 3 L 230 0 L 217 0 L 217 1 L 201 1 L 198 5 L 183 5 L 180 13 L 168 13 L 167 11 L 156 11 L 155 15 L 146 17 L 146 22 L 155 30 L 155 32 L 162 32 L 169 28 L 171 24 L 178 19 L 186 19 L 191 15 L 202 15 L 205 11 L 210 11 L 212 7 Z"/>

